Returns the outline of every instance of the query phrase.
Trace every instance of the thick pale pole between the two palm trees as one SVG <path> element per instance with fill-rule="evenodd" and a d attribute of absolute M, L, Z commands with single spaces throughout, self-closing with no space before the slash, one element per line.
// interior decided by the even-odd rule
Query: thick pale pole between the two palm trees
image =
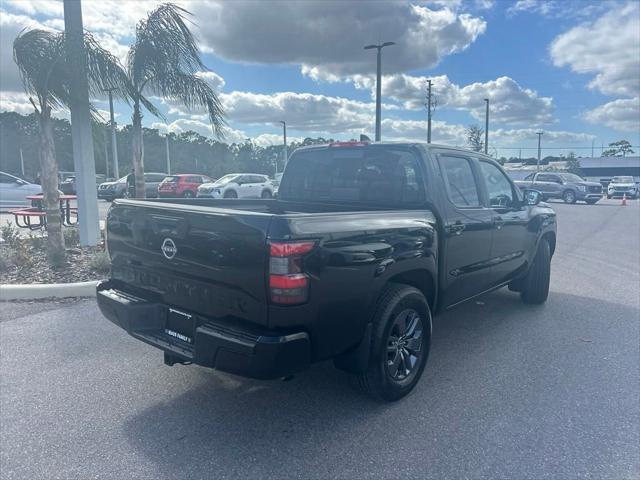
<path fill-rule="evenodd" d="M 70 70 L 71 141 L 78 194 L 80 245 L 98 245 L 100 224 L 96 164 L 89 114 L 87 52 L 84 46 L 82 7 L 78 0 L 64 0 L 64 31 L 67 62 Z"/>

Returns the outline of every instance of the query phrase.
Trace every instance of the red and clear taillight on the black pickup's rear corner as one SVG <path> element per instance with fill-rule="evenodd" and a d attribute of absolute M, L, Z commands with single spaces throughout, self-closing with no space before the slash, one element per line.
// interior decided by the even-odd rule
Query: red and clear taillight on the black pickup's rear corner
<path fill-rule="evenodd" d="M 273 242 L 269 244 L 269 292 L 271 302 L 297 305 L 309 298 L 309 277 L 302 257 L 313 250 L 314 242 Z"/>

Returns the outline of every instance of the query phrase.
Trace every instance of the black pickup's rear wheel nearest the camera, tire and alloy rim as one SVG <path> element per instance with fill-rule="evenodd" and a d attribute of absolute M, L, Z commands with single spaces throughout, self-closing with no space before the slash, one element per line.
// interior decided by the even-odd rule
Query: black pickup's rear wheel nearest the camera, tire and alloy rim
<path fill-rule="evenodd" d="M 420 290 L 391 283 L 377 302 L 372 324 L 369 365 L 355 376 L 356 386 L 379 400 L 399 400 L 413 390 L 427 364 L 429 304 Z"/>

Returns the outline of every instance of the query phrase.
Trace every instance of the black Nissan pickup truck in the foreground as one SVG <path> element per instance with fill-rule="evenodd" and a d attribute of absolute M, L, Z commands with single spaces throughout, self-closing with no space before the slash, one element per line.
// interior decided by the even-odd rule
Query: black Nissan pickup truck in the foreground
<path fill-rule="evenodd" d="M 164 351 L 253 378 L 333 359 L 396 400 L 438 311 L 549 291 L 556 216 L 482 154 L 413 143 L 296 150 L 276 199 L 117 200 L 102 313 Z"/>

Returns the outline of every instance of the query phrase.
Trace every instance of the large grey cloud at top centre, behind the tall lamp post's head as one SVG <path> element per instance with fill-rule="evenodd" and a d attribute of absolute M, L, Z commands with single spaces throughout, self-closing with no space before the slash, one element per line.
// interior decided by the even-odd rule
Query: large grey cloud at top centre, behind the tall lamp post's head
<path fill-rule="evenodd" d="M 384 68 L 399 72 L 436 65 L 464 50 L 486 22 L 455 5 L 431 9 L 408 1 L 370 2 L 194 2 L 204 45 L 235 61 L 302 65 L 315 75 L 375 70 L 368 43 L 394 41 Z"/>

